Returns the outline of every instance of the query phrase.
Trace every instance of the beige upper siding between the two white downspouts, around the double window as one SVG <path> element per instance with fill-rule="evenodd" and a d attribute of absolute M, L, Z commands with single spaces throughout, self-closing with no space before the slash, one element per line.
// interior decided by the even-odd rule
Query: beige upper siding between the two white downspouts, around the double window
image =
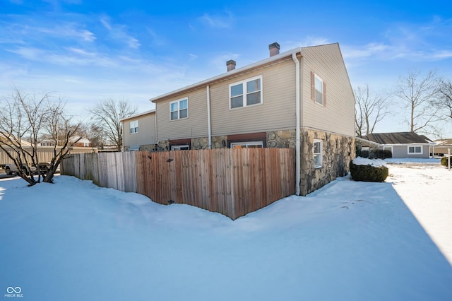
<path fill-rule="evenodd" d="M 263 103 L 230 110 L 229 85 L 262 76 Z M 284 61 L 210 86 L 212 135 L 295 129 L 295 63 Z"/>

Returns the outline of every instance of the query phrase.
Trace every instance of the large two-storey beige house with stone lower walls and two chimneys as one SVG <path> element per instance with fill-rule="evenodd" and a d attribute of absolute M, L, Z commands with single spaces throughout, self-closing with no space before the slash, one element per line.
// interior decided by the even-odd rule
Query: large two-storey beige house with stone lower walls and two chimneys
<path fill-rule="evenodd" d="M 306 195 L 348 172 L 355 155 L 355 97 L 337 43 L 299 47 L 205 81 L 152 98 L 155 127 L 133 120 L 139 133 L 155 137 L 156 150 L 203 148 L 295 148 L 296 193 Z M 144 119 L 144 117 L 143 117 Z M 151 134 L 149 134 L 152 136 Z M 128 139 L 131 139 L 128 141 Z"/>

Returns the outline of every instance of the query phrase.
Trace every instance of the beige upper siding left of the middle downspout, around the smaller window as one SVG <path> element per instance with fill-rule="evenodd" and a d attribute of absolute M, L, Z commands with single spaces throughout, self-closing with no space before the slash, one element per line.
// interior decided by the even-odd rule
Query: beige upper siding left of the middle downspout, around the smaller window
<path fill-rule="evenodd" d="M 189 117 L 169 120 L 169 103 L 189 98 Z M 208 135 L 206 88 L 157 102 L 157 138 L 167 139 L 196 138 Z"/>

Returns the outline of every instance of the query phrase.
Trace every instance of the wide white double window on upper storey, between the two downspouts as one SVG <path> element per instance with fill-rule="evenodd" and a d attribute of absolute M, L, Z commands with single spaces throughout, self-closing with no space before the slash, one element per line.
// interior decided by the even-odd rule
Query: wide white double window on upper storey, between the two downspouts
<path fill-rule="evenodd" d="M 262 76 L 229 85 L 230 108 L 262 103 Z"/>

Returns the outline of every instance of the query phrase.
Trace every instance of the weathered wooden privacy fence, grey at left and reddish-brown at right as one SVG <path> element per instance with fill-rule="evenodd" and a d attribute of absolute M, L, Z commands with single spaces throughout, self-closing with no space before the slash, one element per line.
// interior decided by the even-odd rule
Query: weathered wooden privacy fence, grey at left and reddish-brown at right
<path fill-rule="evenodd" d="M 100 187 L 144 194 L 157 203 L 185 203 L 232 219 L 295 194 L 292 148 L 71 155 L 61 174 Z"/>

